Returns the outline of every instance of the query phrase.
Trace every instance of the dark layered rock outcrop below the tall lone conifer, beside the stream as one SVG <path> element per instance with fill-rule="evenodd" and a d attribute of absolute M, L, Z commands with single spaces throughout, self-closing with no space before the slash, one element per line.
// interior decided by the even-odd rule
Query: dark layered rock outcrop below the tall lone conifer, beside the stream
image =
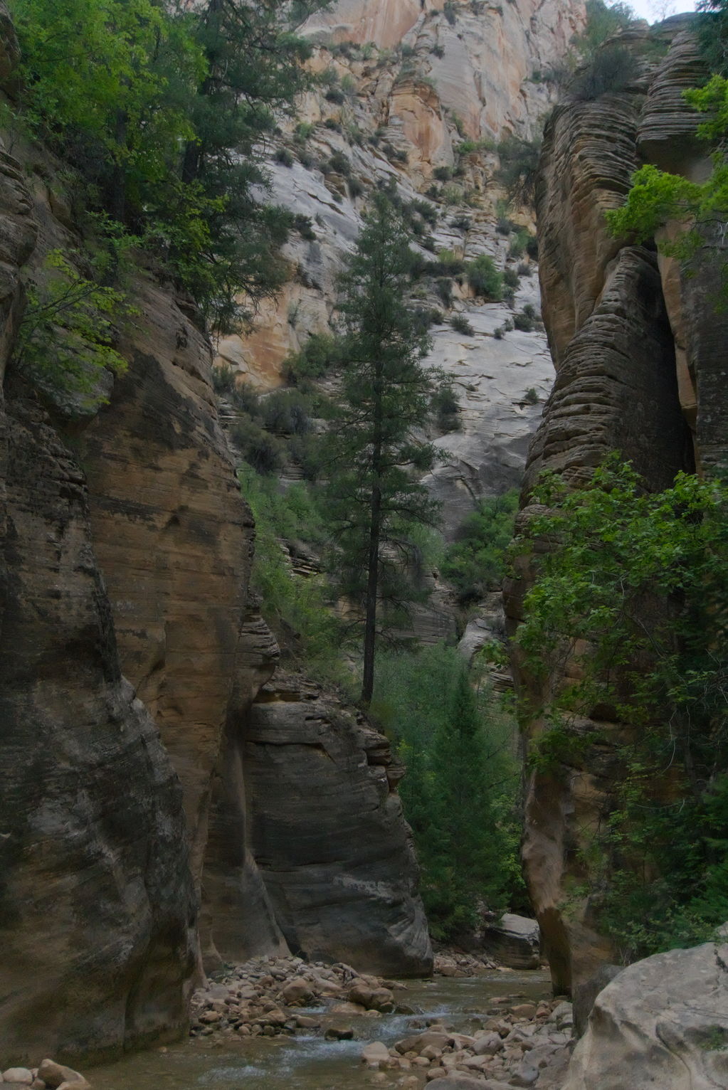
<path fill-rule="evenodd" d="M 294 954 L 423 976 L 433 954 L 387 739 L 277 677 L 244 731 L 252 847 Z"/>

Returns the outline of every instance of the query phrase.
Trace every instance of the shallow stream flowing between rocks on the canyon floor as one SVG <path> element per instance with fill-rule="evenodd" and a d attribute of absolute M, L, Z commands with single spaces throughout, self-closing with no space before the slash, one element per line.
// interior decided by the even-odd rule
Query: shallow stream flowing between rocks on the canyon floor
<path fill-rule="evenodd" d="M 548 974 L 492 972 L 407 981 L 407 991 L 398 991 L 396 996 L 398 1003 L 415 1012 L 412 1015 L 327 1016 L 326 1007 L 311 1007 L 300 1013 L 321 1018 L 316 1032 L 219 1040 L 199 1037 L 165 1050 L 137 1053 L 86 1074 L 95 1090 L 371 1090 L 369 1073 L 360 1063 L 364 1044 L 384 1041 L 391 1045 L 418 1032 L 424 1019 L 435 1017 L 470 1033 L 497 1009 L 494 998 L 506 995 L 514 1003 L 550 997 Z M 344 1025 L 353 1028 L 353 1040 L 325 1040 L 327 1026 Z"/>

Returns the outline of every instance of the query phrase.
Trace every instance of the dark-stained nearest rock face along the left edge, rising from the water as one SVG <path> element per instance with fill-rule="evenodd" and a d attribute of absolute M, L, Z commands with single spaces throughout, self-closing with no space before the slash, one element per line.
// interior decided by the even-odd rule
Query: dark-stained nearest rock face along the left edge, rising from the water
<path fill-rule="evenodd" d="M 109 1054 L 186 1025 L 196 899 L 180 787 L 122 676 L 83 473 L 5 372 L 36 225 L 0 161 L 0 1047 Z"/>

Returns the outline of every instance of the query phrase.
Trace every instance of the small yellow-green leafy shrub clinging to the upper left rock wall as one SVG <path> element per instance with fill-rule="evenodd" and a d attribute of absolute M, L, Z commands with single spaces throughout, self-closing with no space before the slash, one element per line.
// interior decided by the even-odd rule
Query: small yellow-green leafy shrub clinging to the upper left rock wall
<path fill-rule="evenodd" d="M 36 387 L 71 395 L 93 409 L 107 400 L 99 386 L 102 373 L 119 375 L 126 370 L 113 346 L 116 323 L 130 312 L 123 292 L 99 286 L 98 263 L 88 278 L 70 256 L 80 264 L 87 262 L 80 254 L 52 250 L 40 274 L 28 282 L 13 360 Z"/>

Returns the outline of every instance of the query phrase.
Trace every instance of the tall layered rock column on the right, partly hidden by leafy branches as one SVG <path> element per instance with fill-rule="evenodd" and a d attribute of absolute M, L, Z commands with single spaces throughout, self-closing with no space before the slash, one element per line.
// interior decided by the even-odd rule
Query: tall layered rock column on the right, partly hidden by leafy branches
<path fill-rule="evenodd" d="M 681 17 L 652 36 L 664 59 L 643 48 L 650 32 L 626 39 L 638 75 L 627 90 L 557 108 L 546 130 L 537 195 L 544 320 L 557 367 L 554 391 L 532 444 L 524 496 L 541 470 L 579 487 L 596 464 L 618 450 L 655 491 L 678 470 L 725 458 L 726 316 L 715 310 L 721 246 L 701 252 L 693 277 L 652 249 L 612 239 L 603 213 L 622 203 L 630 175 L 651 157 L 693 177 L 704 169 L 694 141 L 695 114 L 681 97 L 697 76 L 694 40 Z M 642 38 L 642 41 L 641 41 Z M 652 53 L 654 57 L 654 51 Z M 678 162 L 676 148 L 682 148 Z M 526 506 L 521 518 L 527 519 Z M 507 588 L 511 629 L 533 572 L 523 560 Z M 533 706 L 545 690 L 515 662 L 518 682 Z M 549 682 L 550 683 L 550 682 Z M 534 718 L 530 738 L 544 724 Z M 587 876 L 581 851 L 609 812 L 619 724 L 580 730 L 586 750 L 557 774 L 532 774 L 526 797 L 524 861 L 545 950 L 558 991 L 568 991 L 609 960 L 589 903 L 570 891 Z"/>

